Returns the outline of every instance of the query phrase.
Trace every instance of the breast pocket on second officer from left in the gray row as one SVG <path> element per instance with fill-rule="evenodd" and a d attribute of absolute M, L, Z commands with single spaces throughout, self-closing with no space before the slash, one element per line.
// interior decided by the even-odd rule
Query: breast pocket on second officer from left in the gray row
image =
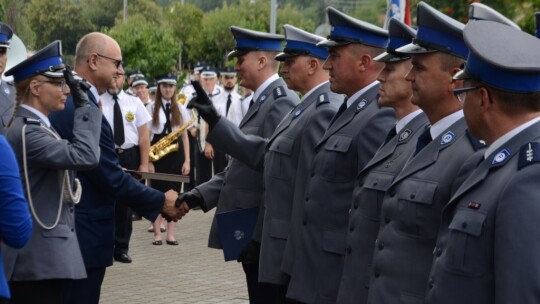
<path fill-rule="evenodd" d="M 288 137 L 278 137 L 270 145 L 270 152 L 265 170 L 272 177 L 281 179 L 291 179 L 292 170 L 295 164 L 291 163 L 291 156 L 294 149 L 294 139 Z"/>

